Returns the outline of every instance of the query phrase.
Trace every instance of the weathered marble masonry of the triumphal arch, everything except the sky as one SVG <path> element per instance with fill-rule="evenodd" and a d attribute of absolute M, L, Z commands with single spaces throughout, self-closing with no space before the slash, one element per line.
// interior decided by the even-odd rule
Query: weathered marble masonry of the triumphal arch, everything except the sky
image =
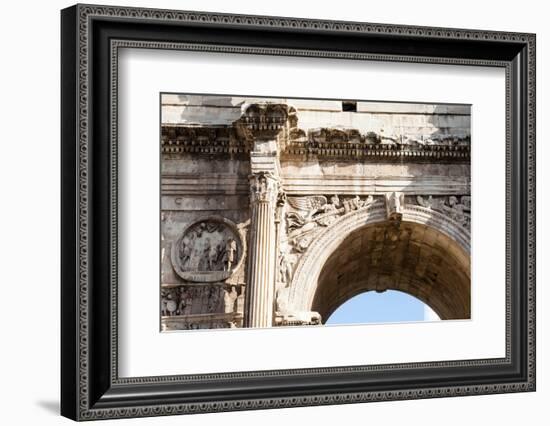
<path fill-rule="evenodd" d="M 163 94 L 161 329 L 470 318 L 470 106 Z"/>

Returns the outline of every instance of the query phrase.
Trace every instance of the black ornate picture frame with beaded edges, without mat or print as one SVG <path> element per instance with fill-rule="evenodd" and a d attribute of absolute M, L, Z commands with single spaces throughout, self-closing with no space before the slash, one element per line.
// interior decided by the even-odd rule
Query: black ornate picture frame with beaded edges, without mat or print
<path fill-rule="evenodd" d="M 534 34 L 510 32 L 97 5 L 64 9 L 61 414 L 90 420 L 534 391 L 535 41 Z M 119 378 L 117 46 L 504 68 L 506 357 Z"/>

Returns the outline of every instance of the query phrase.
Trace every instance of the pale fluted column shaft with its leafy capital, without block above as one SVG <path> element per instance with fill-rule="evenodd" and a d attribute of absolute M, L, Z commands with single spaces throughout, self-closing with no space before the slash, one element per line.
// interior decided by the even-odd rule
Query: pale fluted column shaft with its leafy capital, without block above
<path fill-rule="evenodd" d="M 248 327 L 273 325 L 275 298 L 275 209 L 278 179 L 270 172 L 250 176 L 252 208 L 249 243 Z"/>

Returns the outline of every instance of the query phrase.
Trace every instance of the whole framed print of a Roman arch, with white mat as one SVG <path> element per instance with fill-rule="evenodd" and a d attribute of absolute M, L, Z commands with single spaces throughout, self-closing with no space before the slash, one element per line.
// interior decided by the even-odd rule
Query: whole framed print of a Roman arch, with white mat
<path fill-rule="evenodd" d="M 74 420 L 535 390 L 535 36 L 76 5 Z"/>

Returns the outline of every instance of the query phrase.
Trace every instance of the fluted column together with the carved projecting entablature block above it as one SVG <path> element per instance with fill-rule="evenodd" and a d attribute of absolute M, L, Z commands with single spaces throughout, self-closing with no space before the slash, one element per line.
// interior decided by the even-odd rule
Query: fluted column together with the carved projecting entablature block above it
<path fill-rule="evenodd" d="M 277 231 L 275 210 L 280 190 L 279 152 L 288 133 L 288 106 L 247 104 L 236 122 L 250 146 L 250 207 L 246 327 L 271 327 L 275 311 Z"/>

